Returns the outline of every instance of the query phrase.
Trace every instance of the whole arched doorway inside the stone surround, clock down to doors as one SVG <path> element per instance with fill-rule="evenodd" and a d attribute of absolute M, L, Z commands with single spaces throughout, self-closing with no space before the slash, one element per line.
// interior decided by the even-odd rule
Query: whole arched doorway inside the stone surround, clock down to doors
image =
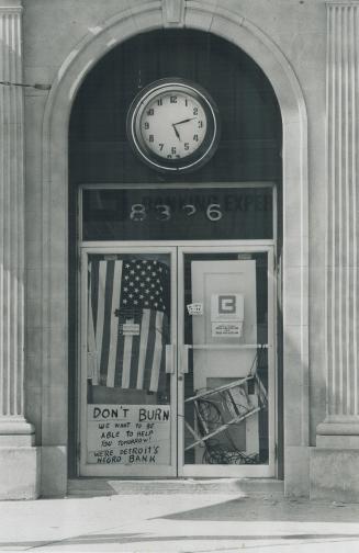
<path fill-rule="evenodd" d="M 193 90 L 221 135 L 188 171 L 175 163 L 214 132 Z M 131 148 L 134 99 L 152 167 Z M 69 127 L 77 474 L 278 474 L 281 149 L 267 77 L 210 33 L 144 33 L 85 79 Z"/>

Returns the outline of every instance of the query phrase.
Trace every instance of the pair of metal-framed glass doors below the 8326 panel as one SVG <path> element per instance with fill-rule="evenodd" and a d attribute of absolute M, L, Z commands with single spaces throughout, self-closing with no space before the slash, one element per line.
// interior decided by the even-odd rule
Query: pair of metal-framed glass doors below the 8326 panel
<path fill-rule="evenodd" d="M 272 246 L 86 246 L 80 296 L 80 475 L 274 476 Z"/>

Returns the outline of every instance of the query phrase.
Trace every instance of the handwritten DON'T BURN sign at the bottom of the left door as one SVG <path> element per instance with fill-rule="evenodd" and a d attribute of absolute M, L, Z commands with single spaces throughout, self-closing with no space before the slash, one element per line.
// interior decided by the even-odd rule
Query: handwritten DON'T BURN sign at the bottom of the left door
<path fill-rule="evenodd" d="M 170 464 L 169 405 L 88 405 L 87 462 Z"/>

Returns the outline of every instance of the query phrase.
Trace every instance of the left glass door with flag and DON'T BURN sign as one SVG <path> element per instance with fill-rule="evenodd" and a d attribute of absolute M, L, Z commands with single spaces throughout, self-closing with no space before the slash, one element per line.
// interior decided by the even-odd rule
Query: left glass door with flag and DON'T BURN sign
<path fill-rule="evenodd" d="M 177 474 L 173 247 L 81 250 L 82 476 Z"/>

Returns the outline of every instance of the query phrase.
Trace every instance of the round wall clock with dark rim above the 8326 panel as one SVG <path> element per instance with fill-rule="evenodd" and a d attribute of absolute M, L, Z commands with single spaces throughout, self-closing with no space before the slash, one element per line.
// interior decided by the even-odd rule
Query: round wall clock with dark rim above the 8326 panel
<path fill-rule="evenodd" d="M 216 150 L 218 110 L 199 84 L 178 78 L 160 79 L 133 100 L 127 137 L 135 154 L 152 168 L 193 171 Z"/>

